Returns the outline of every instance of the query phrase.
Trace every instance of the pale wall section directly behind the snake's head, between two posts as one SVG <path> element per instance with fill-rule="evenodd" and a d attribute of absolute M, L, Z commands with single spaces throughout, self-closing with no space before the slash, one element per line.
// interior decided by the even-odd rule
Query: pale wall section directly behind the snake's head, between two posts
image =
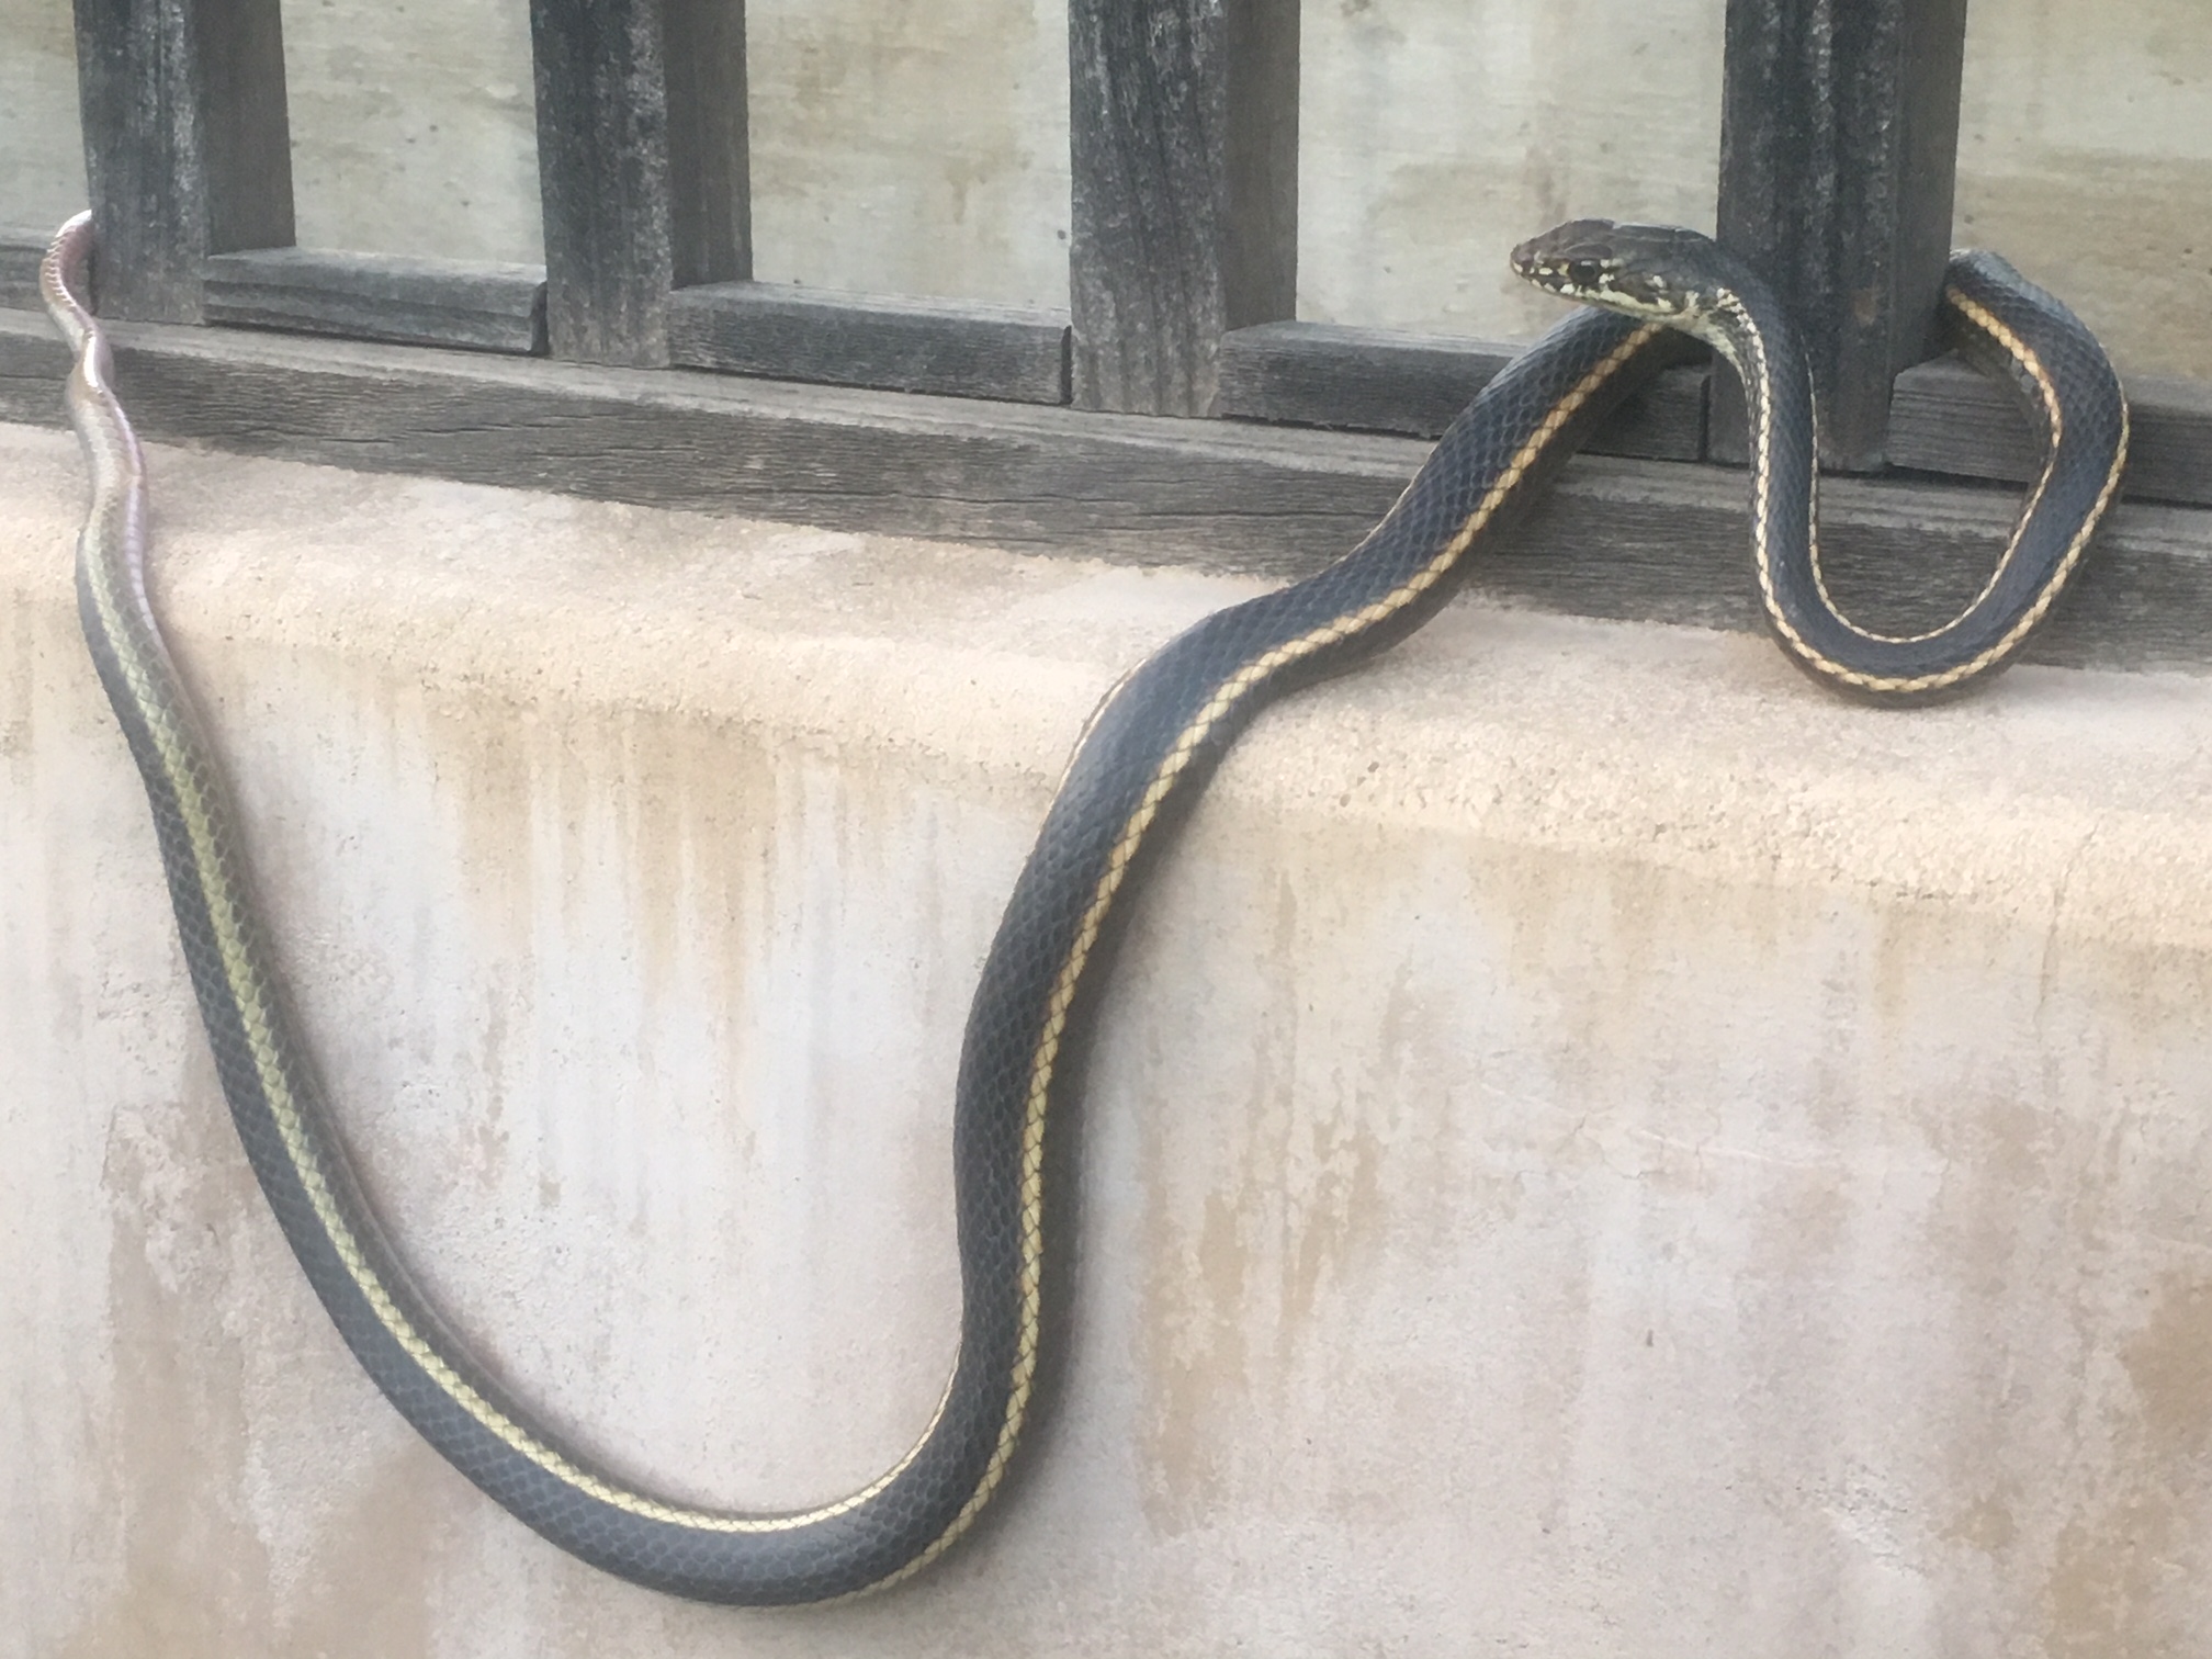
<path fill-rule="evenodd" d="M 1708 0 L 1307 0 L 1298 314 L 1486 336 L 1559 303 L 1506 250 L 1604 215 L 1712 230 Z"/>

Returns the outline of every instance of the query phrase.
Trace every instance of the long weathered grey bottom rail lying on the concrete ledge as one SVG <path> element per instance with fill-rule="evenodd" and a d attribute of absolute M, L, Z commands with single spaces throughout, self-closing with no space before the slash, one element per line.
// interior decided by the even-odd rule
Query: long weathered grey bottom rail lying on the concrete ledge
<path fill-rule="evenodd" d="M 1349 549 L 1427 456 L 1407 438 L 281 334 L 126 323 L 115 341 L 148 438 L 1279 577 Z M 0 418 L 58 425 L 64 372 L 42 316 L 0 314 Z M 1582 458 L 1473 582 L 1551 611 L 1752 628 L 1743 493 L 1721 467 Z M 1836 593 L 1889 628 L 1971 597 L 2013 518 L 2004 491 L 1898 480 L 1836 480 L 1823 507 Z M 2212 670 L 2212 511 L 2115 509 L 2033 655 Z"/>

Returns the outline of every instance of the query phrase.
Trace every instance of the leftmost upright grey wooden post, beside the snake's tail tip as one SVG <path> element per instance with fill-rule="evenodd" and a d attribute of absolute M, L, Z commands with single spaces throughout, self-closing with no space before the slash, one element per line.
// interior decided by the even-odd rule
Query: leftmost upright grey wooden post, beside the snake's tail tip
<path fill-rule="evenodd" d="M 201 263 L 292 241 L 276 0 L 75 0 L 108 316 L 201 319 Z"/>

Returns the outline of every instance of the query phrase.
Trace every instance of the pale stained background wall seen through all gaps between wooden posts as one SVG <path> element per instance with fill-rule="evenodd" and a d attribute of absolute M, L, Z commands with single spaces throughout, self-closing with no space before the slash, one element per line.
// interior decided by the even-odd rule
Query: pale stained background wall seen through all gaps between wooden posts
<path fill-rule="evenodd" d="M 1504 250 L 1582 212 L 1710 228 L 1719 0 L 1307 0 L 1301 316 L 1528 334 Z M 82 197 L 66 11 L 0 0 L 0 221 Z M 759 274 L 1066 299 L 1066 11 L 752 0 Z M 301 239 L 538 257 L 520 4 L 285 7 Z M 2212 376 L 2212 7 L 1975 0 L 1958 239 L 2121 367 Z"/>

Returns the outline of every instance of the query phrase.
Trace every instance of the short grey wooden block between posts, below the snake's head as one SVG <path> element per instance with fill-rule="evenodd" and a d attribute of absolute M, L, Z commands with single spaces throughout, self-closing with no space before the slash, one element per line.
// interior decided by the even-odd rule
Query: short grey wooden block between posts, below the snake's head
<path fill-rule="evenodd" d="M 1436 438 L 1526 347 L 1336 323 L 1261 323 L 1221 338 L 1221 414 Z M 1590 438 L 1599 456 L 1705 453 L 1705 369 L 1668 369 Z"/>

